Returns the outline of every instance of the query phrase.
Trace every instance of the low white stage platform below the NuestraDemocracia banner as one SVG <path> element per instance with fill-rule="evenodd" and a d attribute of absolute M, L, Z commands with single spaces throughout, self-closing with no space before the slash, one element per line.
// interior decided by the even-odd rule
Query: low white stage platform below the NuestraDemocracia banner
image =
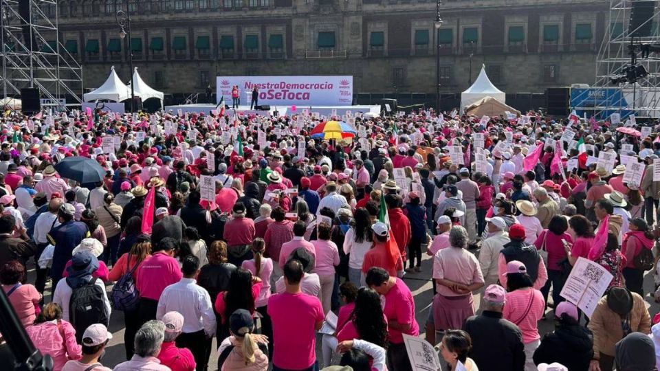
<path fill-rule="evenodd" d="M 210 113 L 210 111 L 215 109 L 215 104 L 179 104 L 175 106 L 165 106 L 165 111 L 172 111 L 177 113 L 178 110 L 181 110 L 181 113 Z M 353 115 L 355 113 L 371 113 L 371 115 L 380 115 L 380 106 L 296 106 L 296 111 L 292 110 L 292 106 L 270 106 L 270 111 L 261 111 L 256 109 L 250 109 L 250 106 L 239 106 L 236 109 L 236 113 L 239 115 L 275 115 L 275 112 L 278 115 L 296 115 L 303 112 L 303 109 L 307 109 L 309 113 L 317 113 L 320 116 L 330 116 L 333 113 L 337 115 L 346 115 L 347 111 L 351 111 Z M 226 113 L 233 114 L 234 109 L 231 108 L 225 111 Z"/>

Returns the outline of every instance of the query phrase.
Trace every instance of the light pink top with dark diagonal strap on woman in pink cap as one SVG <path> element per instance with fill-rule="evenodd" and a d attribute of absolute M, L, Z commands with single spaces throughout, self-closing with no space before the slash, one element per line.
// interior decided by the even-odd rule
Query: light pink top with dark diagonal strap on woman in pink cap
<path fill-rule="evenodd" d="M 531 305 L 530 305 L 531 302 Z M 529 308 L 529 311 L 527 311 Z M 540 339 L 538 321 L 543 317 L 545 300 L 536 289 L 518 289 L 507 293 L 503 316 L 516 324 L 522 331 L 522 342 L 531 343 Z"/>

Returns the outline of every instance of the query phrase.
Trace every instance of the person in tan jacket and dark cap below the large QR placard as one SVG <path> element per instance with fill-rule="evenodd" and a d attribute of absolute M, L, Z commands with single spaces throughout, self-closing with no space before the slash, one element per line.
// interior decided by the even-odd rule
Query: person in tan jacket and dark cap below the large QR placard
<path fill-rule="evenodd" d="M 598 301 L 588 328 L 593 333 L 589 370 L 612 371 L 617 341 L 633 332 L 650 333 L 651 317 L 643 297 L 625 287 L 613 286 Z"/>

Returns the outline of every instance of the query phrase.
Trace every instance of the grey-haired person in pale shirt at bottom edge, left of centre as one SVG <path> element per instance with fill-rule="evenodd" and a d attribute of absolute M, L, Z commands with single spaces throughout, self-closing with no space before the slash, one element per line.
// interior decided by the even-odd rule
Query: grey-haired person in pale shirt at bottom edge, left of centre
<path fill-rule="evenodd" d="M 115 371 L 170 371 L 157 359 L 165 339 L 165 324 L 151 320 L 142 325 L 135 334 L 135 355 L 129 361 L 115 366 Z"/>

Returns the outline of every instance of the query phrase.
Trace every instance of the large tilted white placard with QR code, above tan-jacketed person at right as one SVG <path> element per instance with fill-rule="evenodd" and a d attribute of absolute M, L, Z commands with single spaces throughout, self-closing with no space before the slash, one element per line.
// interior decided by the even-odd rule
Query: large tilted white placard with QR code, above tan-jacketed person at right
<path fill-rule="evenodd" d="M 612 274 L 597 262 L 577 258 L 560 295 L 591 318 L 598 301 L 612 281 Z"/>

